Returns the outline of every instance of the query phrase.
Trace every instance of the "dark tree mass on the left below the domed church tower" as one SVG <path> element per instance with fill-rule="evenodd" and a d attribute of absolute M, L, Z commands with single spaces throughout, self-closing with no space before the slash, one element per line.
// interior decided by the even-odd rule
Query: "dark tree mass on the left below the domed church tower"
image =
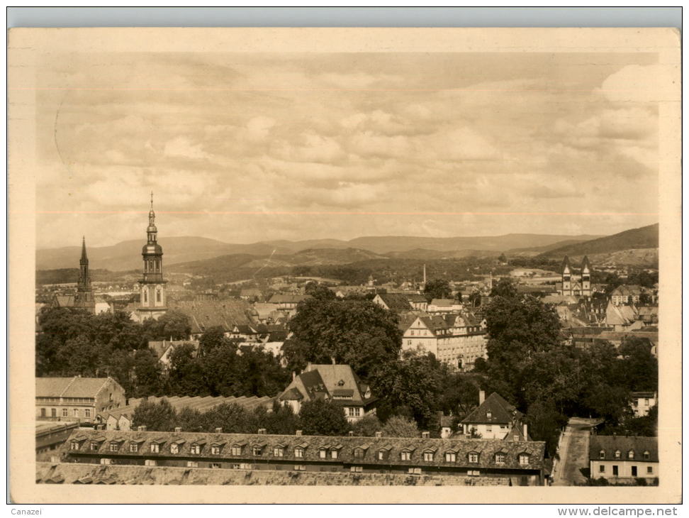
<path fill-rule="evenodd" d="M 111 376 L 129 397 L 150 395 L 275 395 L 289 371 L 271 353 L 237 353 L 222 329 L 209 329 L 199 350 L 179 346 L 169 370 L 148 348 L 151 340 L 184 339 L 189 321 L 170 311 L 143 324 L 123 312 L 91 315 L 74 309 L 46 309 L 39 317 L 36 375 Z"/>

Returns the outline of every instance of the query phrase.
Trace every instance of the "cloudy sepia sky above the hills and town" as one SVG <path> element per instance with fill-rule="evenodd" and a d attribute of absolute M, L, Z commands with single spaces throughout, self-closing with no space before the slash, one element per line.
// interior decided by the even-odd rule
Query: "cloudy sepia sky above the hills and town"
<path fill-rule="evenodd" d="M 37 93 L 39 248 L 658 221 L 653 54 L 79 53 Z"/>

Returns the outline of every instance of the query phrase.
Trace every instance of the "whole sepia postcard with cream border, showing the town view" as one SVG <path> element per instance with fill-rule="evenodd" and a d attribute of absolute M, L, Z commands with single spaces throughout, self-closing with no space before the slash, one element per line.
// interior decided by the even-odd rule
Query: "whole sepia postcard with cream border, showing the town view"
<path fill-rule="evenodd" d="M 677 31 L 8 42 L 13 502 L 681 501 Z"/>

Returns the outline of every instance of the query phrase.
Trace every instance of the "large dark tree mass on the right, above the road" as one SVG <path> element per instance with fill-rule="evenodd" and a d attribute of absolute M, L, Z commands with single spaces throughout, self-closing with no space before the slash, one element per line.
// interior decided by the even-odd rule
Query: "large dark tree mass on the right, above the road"
<path fill-rule="evenodd" d="M 498 285 L 499 286 L 499 285 Z M 488 360 L 477 362 L 482 385 L 500 393 L 531 421 L 531 435 L 554 451 L 568 416 L 605 419 L 608 429 L 648 432 L 633 419 L 630 392 L 656 390 L 658 362 L 651 344 L 629 338 L 575 348 L 564 343 L 553 307 L 503 287 L 486 308 Z"/>

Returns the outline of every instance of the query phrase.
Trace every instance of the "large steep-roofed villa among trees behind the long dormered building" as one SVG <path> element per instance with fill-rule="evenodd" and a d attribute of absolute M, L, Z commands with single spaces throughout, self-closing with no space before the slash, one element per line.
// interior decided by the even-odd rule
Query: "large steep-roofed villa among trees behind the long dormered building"
<path fill-rule="evenodd" d="M 313 399 L 325 399 L 342 407 L 350 422 L 375 414 L 378 400 L 371 394 L 369 385 L 359 380 L 349 365 L 309 363 L 278 396 L 278 401 L 298 414 L 303 402 Z"/>

